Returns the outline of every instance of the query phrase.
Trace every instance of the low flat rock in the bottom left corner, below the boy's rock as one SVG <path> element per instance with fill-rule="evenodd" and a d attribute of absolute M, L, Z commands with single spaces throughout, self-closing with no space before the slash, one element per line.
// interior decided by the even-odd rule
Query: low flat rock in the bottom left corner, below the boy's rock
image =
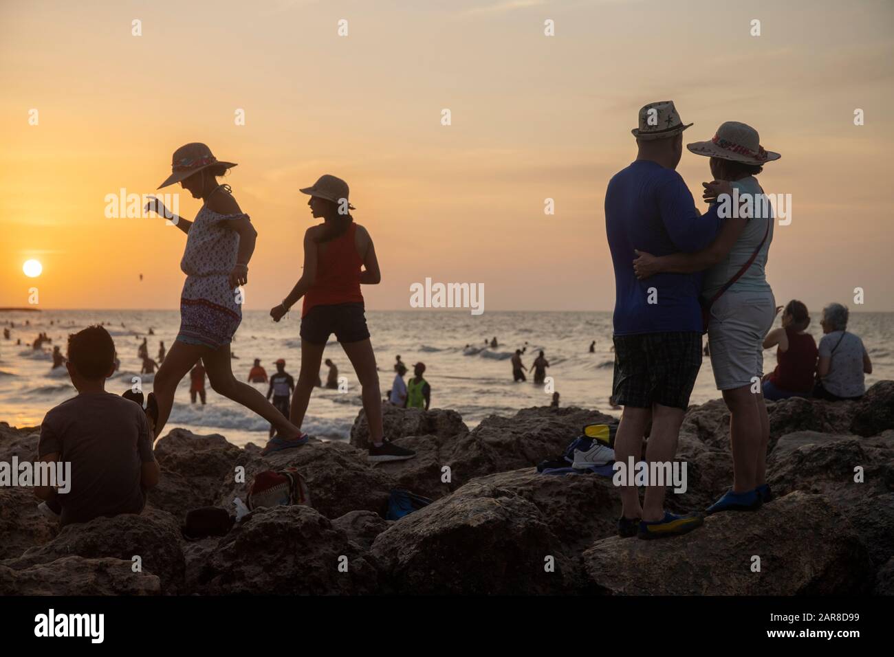
<path fill-rule="evenodd" d="M 130 560 L 63 557 L 15 570 L 0 564 L 3 595 L 157 595 L 161 583 L 144 570 L 135 573 Z"/>

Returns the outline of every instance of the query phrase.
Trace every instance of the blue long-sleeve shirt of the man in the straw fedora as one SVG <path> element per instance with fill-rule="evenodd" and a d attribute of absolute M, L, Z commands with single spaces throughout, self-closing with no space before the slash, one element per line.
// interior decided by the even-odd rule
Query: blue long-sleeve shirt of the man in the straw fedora
<path fill-rule="evenodd" d="M 702 274 L 633 271 L 634 249 L 654 256 L 698 251 L 720 230 L 716 206 L 699 215 L 679 173 L 637 160 L 616 173 L 605 192 L 605 232 L 615 273 L 614 334 L 702 331 Z M 654 303 L 649 303 L 654 288 Z"/>

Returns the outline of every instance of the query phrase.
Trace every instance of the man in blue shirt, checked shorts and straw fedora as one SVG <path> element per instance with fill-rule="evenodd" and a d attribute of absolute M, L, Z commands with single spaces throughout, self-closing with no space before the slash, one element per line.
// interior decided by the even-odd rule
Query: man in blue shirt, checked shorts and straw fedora
<path fill-rule="evenodd" d="M 635 251 L 671 254 L 707 246 L 719 229 L 716 210 L 699 215 L 675 171 L 683 153 L 684 125 L 671 101 L 639 111 L 637 159 L 609 182 L 605 230 L 615 274 L 615 369 L 612 395 L 624 407 L 615 459 L 629 469 L 640 460 L 650 416 L 646 461 L 669 463 L 679 427 L 702 365 L 701 274 L 657 274 L 637 279 Z M 629 477 L 629 479 L 628 479 Z M 632 480 L 633 473 L 622 481 Z M 618 534 L 662 538 L 685 534 L 703 518 L 665 512 L 665 484 L 649 481 L 643 505 L 636 486 L 620 485 Z"/>

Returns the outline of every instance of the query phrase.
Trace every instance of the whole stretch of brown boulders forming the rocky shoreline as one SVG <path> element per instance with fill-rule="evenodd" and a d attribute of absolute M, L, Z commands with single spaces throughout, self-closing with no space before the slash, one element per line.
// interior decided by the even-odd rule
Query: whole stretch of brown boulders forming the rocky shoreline
<path fill-rule="evenodd" d="M 470 431 L 451 410 L 389 408 L 386 434 L 417 458 L 377 465 L 362 411 L 350 443 L 269 457 L 173 429 L 156 442 L 161 484 L 139 516 L 60 531 L 30 489 L 0 488 L 0 594 L 894 594 L 894 381 L 856 402 L 768 409 L 776 499 L 664 541 L 614 535 L 611 479 L 536 472 L 583 425 L 617 423 L 596 411 L 523 409 Z M 729 420 L 721 400 L 687 411 L 688 490 L 668 493 L 670 510 L 704 509 L 729 486 Z M 0 460 L 36 459 L 37 442 L 37 428 L 0 423 Z M 185 541 L 187 510 L 246 499 L 240 466 L 247 482 L 297 467 L 312 506 L 257 510 L 228 535 Z M 435 501 L 385 520 L 395 487 Z"/>

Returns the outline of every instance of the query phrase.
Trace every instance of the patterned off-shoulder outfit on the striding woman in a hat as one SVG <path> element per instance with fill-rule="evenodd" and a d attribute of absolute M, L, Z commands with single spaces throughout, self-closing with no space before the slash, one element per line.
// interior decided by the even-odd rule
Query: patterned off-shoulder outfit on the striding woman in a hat
<path fill-rule="evenodd" d="M 221 215 L 202 206 L 190 226 L 180 263 L 187 277 L 177 340 L 219 349 L 232 341 L 239 328 L 240 296 L 229 280 L 239 251 L 239 233 L 228 224 L 243 216 L 249 215 Z"/>

